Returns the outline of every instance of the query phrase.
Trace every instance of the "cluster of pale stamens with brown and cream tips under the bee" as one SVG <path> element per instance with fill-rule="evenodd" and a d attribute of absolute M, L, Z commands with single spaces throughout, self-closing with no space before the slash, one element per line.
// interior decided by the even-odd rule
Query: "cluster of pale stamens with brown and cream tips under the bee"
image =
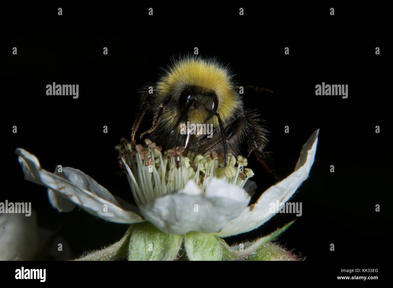
<path fill-rule="evenodd" d="M 229 153 L 228 165 L 224 167 L 224 161 L 219 160 L 217 152 L 207 156 L 188 152 L 184 157 L 183 147 L 168 149 L 162 154 L 156 143 L 149 139 L 145 143 L 145 148 L 139 144 L 132 149 L 132 145 L 124 141 L 115 147 L 120 154 L 121 167 L 127 171 L 137 205 L 183 189 L 188 181 L 195 182 L 203 192 L 213 177 L 242 188 L 254 174 L 251 169 L 244 169 L 247 159 L 243 156 L 238 156 L 236 161 L 235 156 Z M 165 160 L 162 155 L 167 156 Z"/>

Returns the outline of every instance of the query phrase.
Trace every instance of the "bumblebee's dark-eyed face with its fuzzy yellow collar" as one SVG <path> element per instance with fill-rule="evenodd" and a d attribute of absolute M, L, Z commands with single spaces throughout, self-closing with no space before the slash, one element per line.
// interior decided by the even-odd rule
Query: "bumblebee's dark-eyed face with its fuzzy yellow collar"
<path fill-rule="evenodd" d="M 189 121 L 218 127 L 217 114 L 222 122 L 230 121 L 242 105 L 232 78 L 228 66 L 216 59 L 185 56 L 173 61 L 156 86 L 160 97 L 171 97 L 163 113 L 163 125 L 172 130 Z"/>

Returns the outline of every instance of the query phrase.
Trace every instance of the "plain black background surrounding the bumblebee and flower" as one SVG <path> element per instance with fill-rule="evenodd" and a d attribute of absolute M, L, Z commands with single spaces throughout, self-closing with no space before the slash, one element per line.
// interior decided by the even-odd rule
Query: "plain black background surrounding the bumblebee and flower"
<path fill-rule="evenodd" d="M 58 164 L 80 169 L 133 202 L 127 179 L 116 174 L 113 147 L 129 138 L 138 89 L 156 81 L 171 56 L 198 47 L 200 56 L 229 63 L 239 84 L 274 90 L 274 95 L 244 95 L 244 106 L 266 119 L 268 149 L 280 175 L 293 171 L 302 145 L 320 128 L 310 177 L 291 200 L 303 203 L 303 215 L 279 241 L 309 262 L 376 264 L 387 257 L 392 152 L 383 7 L 331 4 L 335 15 L 330 16 L 329 5 L 241 4 L 241 17 L 239 5 L 4 9 L 2 175 L 10 185 L 2 189 L 0 201 L 32 202 L 39 225 L 61 226 L 59 233 L 75 257 L 116 242 L 127 226 L 78 209 L 58 213 L 44 187 L 23 180 L 13 151 L 28 150 L 49 171 Z M 152 17 L 149 7 L 154 8 Z M 17 55 L 12 55 L 13 47 Z M 284 55 L 285 47 L 290 55 Z M 375 47 L 381 55 L 375 55 Z M 46 85 L 52 82 L 79 84 L 79 99 L 47 96 Z M 316 96 L 315 85 L 322 82 L 348 84 L 348 98 Z M 17 134 L 12 133 L 14 125 Z M 104 125 L 108 134 L 102 132 Z M 289 134 L 284 133 L 286 125 Z M 249 167 L 257 176 L 259 195 L 275 183 L 253 156 Z M 259 229 L 227 240 L 252 240 L 294 218 L 279 214 Z M 331 243 L 335 251 L 330 251 Z"/>

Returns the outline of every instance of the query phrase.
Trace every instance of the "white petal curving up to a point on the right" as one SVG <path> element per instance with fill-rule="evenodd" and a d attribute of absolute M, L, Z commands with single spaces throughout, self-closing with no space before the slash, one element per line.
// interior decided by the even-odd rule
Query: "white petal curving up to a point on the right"
<path fill-rule="evenodd" d="M 275 213 L 270 213 L 269 204 L 276 203 L 277 200 L 279 203 L 288 201 L 309 176 L 312 163 L 314 163 L 318 133 L 319 129 L 303 145 L 295 172 L 267 189 L 254 205 L 246 207 L 239 217 L 231 220 L 219 233 L 216 233 L 217 236 L 227 237 L 251 231 L 275 215 Z"/>

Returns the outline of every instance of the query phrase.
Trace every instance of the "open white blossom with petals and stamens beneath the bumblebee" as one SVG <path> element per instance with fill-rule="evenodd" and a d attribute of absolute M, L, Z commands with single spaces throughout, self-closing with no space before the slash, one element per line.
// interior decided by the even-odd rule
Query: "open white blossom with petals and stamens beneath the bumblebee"
<path fill-rule="evenodd" d="M 172 235 L 171 241 L 176 242 L 173 251 L 177 249 L 176 253 L 182 243 L 182 237 L 176 235 L 185 235 L 187 255 L 196 260 L 198 253 L 195 251 L 206 243 L 212 243 L 209 237 L 217 241 L 217 237 L 245 233 L 275 215 L 270 213 L 269 204 L 276 200 L 285 203 L 307 179 L 314 162 L 318 132 L 315 131 L 303 145 L 295 171 L 266 190 L 250 206 L 250 196 L 243 187 L 253 176 L 251 169 L 242 173 L 242 165 L 234 166 L 236 160 L 220 167 L 222 163 L 215 155 L 204 157 L 189 153 L 189 157 L 182 157 L 179 150 L 170 149 L 163 157 L 159 147 L 151 141 L 147 141 L 147 148 L 137 145 L 137 151 L 133 152 L 130 143 L 116 146 L 138 205 L 135 207 L 113 196 L 77 169 L 63 167 L 62 171 L 51 173 L 42 169 L 38 159 L 26 150 L 18 148 L 16 153 L 25 179 L 47 187 L 50 202 L 59 211 L 71 211 L 78 205 L 88 213 L 111 222 L 135 224 L 149 221 L 160 231 Z M 228 158 L 234 157 L 229 155 Z M 247 161 L 245 158 L 240 160 L 239 163 Z M 137 235 L 135 227 L 142 226 L 137 224 L 133 227 L 123 240 L 127 239 L 127 235 Z M 187 242 L 187 239 L 192 241 Z M 195 248 L 196 243 L 199 243 L 198 249 Z M 222 249 L 220 251 L 221 254 L 213 253 L 211 259 L 222 258 Z"/>

